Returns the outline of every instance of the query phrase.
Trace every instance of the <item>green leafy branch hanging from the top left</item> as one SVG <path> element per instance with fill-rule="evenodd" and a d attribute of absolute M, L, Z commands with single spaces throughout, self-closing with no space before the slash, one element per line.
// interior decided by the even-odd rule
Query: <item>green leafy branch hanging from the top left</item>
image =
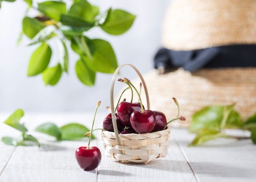
<path fill-rule="evenodd" d="M 2 1 L 15 0 L 0 0 L 0 5 Z M 29 46 L 38 44 L 29 60 L 29 77 L 41 74 L 46 85 L 56 85 L 62 73 L 69 70 L 69 48 L 79 57 L 75 72 L 86 86 L 94 85 L 97 72 L 115 71 L 117 59 L 110 43 L 103 39 L 90 39 L 85 33 L 99 27 L 110 35 L 121 35 L 130 29 L 135 15 L 112 8 L 100 12 L 99 7 L 87 0 L 73 0 L 70 6 L 62 0 L 25 2 L 28 5 L 27 14 L 31 9 L 38 13 L 34 17 L 25 16 L 22 20 L 22 35 L 31 39 Z M 53 67 L 49 66 L 52 59 L 50 40 L 58 45 L 59 61 Z"/>

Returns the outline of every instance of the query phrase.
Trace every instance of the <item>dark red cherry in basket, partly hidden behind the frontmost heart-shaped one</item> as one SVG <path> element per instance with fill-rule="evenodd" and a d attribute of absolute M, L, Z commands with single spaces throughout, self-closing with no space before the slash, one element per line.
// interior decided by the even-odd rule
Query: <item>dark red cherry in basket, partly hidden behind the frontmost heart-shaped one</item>
<path fill-rule="evenodd" d="M 140 103 L 129 103 L 129 102 L 120 102 L 117 106 L 117 115 L 119 116 L 121 122 L 130 127 L 130 115 L 134 111 L 141 111 Z"/>

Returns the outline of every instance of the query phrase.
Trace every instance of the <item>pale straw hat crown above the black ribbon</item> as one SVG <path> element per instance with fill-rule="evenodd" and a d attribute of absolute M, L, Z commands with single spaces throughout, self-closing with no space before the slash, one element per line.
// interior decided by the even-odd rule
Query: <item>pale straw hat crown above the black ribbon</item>
<path fill-rule="evenodd" d="M 230 44 L 256 44 L 255 0 L 171 0 L 162 45 L 194 50 Z"/>

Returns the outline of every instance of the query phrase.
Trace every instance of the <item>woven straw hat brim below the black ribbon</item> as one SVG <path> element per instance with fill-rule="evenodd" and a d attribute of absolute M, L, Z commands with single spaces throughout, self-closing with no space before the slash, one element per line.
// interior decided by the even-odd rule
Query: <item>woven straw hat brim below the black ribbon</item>
<path fill-rule="evenodd" d="M 174 72 L 159 75 L 151 70 L 143 75 L 148 89 L 150 109 L 162 111 L 167 120 L 177 116 L 175 97 L 180 105 L 180 115 L 186 121 L 172 123 L 173 127 L 189 127 L 194 112 L 209 105 L 230 105 L 245 121 L 256 113 L 256 69 L 255 68 L 219 68 L 201 69 L 194 73 L 182 68 Z M 140 79 L 132 80 L 138 86 Z M 124 97 L 129 101 L 130 92 Z M 146 105 L 144 91 L 141 91 L 143 105 Z M 134 101 L 137 101 L 136 94 Z"/>

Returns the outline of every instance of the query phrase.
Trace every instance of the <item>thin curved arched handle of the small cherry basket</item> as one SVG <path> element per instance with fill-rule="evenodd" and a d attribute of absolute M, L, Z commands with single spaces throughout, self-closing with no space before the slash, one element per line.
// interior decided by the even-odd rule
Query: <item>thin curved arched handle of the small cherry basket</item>
<path fill-rule="evenodd" d="M 141 79 L 141 82 L 143 84 L 143 87 L 144 87 L 144 90 L 145 90 L 145 94 L 146 94 L 146 99 L 147 99 L 147 108 L 148 110 L 150 109 L 150 106 L 149 106 L 149 97 L 148 97 L 148 90 L 147 90 L 147 87 L 146 87 L 146 83 L 141 75 L 141 73 L 139 72 L 139 70 L 133 66 L 132 64 L 122 64 L 120 65 L 114 72 L 113 76 L 112 76 L 112 80 L 111 80 L 111 85 L 110 85 L 110 108 L 111 108 L 111 116 L 112 116 L 112 123 L 113 123 L 113 127 L 114 127 L 114 132 L 115 132 L 115 137 L 116 137 L 116 140 L 117 140 L 117 145 L 121 145 L 120 144 L 120 140 L 119 140 L 119 134 L 118 134 L 118 129 L 117 129 L 117 121 L 116 121 L 116 117 L 115 117 L 115 106 L 114 106 L 114 85 L 115 85 L 115 80 L 117 78 L 117 74 L 119 72 L 119 70 L 124 67 L 124 66 L 130 66 L 132 67 L 136 72 L 137 74 L 139 75 L 139 78 Z M 122 151 L 119 151 L 121 154 Z"/>

